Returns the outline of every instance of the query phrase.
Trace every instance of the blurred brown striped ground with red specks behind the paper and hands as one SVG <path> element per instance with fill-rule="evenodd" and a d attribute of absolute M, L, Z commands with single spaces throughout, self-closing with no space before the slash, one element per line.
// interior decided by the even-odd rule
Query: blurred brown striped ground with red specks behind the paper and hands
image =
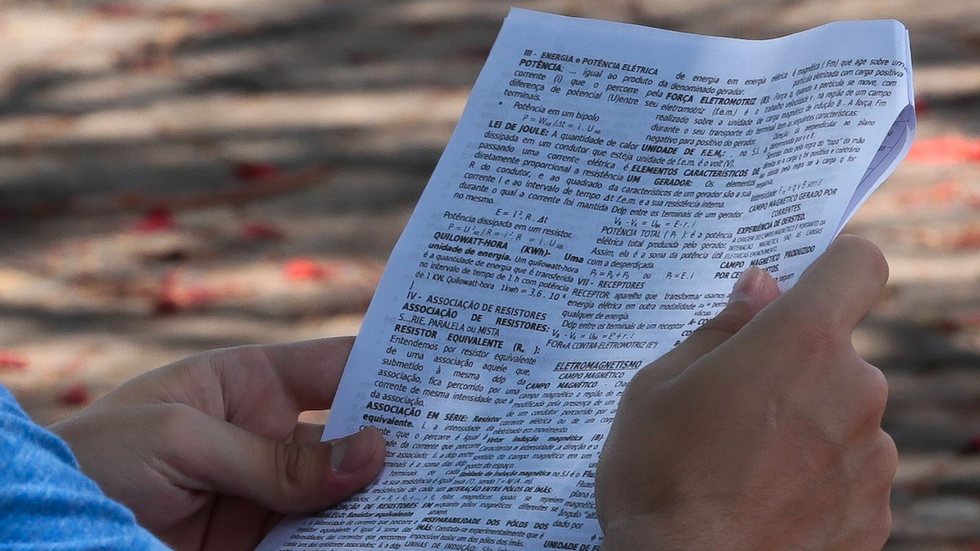
<path fill-rule="evenodd" d="M 766 38 L 911 30 L 919 134 L 849 231 L 892 266 L 888 549 L 980 549 L 980 4 L 513 2 Z M 41 423 L 208 348 L 351 334 L 506 13 L 489 0 L 0 0 L 0 382 Z"/>

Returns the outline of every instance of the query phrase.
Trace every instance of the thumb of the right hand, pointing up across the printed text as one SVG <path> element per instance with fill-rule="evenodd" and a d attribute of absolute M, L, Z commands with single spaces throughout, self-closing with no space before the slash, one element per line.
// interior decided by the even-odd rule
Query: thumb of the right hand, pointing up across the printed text
<path fill-rule="evenodd" d="M 725 309 L 654 362 L 651 366 L 654 368 L 654 376 L 667 380 L 680 375 L 687 366 L 741 330 L 777 296 L 779 287 L 769 272 L 757 266 L 749 266 L 735 282 Z"/>

